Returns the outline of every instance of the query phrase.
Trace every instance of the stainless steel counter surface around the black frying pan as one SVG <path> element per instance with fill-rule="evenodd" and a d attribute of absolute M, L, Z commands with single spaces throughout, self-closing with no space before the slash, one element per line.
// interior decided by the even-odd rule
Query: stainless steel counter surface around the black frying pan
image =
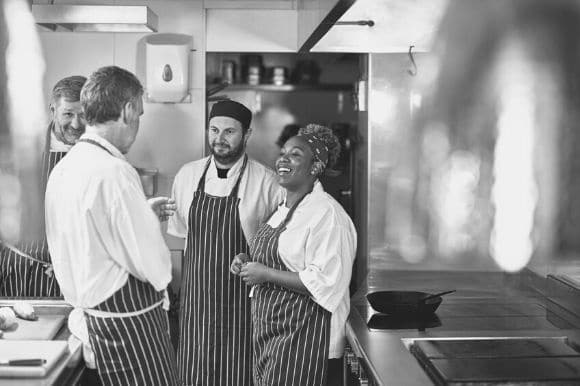
<path fill-rule="evenodd" d="M 432 384 L 409 351 L 416 339 L 568 337 L 580 343 L 580 325 L 549 312 L 542 294 L 521 283 L 513 276 L 489 272 L 374 272 L 352 298 L 347 340 L 371 384 L 396 386 Z M 370 329 L 367 323 L 375 312 L 364 295 L 379 289 L 457 292 L 446 296 L 436 311 L 438 326 L 423 331 L 405 326 Z"/>

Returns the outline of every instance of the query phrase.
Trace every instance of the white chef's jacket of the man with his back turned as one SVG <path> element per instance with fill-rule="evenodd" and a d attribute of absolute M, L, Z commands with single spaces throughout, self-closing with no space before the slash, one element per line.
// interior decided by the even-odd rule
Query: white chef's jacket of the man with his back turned
<path fill-rule="evenodd" d="M 46 235 L 64 298 L 91 308 L 125 285 L 128 275 L 164 290 L 171 258 L 159 219 L 135 168 L 107 140 L 85 133 L 111 152 L 79 142 L 55 166 L 46 188 Z"/>

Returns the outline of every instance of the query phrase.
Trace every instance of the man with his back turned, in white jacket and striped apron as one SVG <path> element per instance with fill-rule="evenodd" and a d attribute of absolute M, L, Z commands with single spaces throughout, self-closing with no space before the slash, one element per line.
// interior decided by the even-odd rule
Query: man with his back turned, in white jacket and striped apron
<path fill-rule="evenodd" d="M 125 154 L 143 114 L 143 87 L 119 67 L 95 71 L 81 92 L 86 132 L 54 168 L 46 232 L 67 302 L 82 308 L 105 385 L 177 385 L 162 308 L 170 253 Z M 167 200 L 157 202 L 157 214 Z"/>

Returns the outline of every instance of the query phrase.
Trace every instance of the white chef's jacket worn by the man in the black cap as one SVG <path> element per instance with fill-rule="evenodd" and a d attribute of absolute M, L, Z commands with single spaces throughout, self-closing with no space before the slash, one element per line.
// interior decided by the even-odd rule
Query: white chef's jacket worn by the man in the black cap
<path fill-rule="evenodd" d="M 187 245 L 189 207 L 207 160 L 208 157 L 205 157 L 185 164 L 173 181 L 172 196 L 175 199 L 177 210 L 169 218 L 167 233 L 186 238 L 185 245 Z M 243 160 L 244 157 L 240 157 L 228 170 L 227 177 L 219 178 L 215 162 L 211 157 L 209 169 L 205 176 L 205 192 L 218 197 L 229 195 L 238 180 Z M 278 177 L 274 171 L 248 158 L 246 171 L 238 189 L 240 222 L 248 243 L 256 234 L 258 227 L 266 221 L 283 200 L 284 190 L 278 185 L 277 180 Z"/>

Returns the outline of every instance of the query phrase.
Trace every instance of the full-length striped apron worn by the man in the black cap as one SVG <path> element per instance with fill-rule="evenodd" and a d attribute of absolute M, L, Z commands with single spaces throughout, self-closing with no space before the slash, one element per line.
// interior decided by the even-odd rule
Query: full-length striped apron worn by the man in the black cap
<path fill-rule="evenodd" d="M 249 248 L 240 223 L 238 189 L 205 193 L 208 160 L 189 209 L 183 260 L 177 364 L 184 385 L 251 385 L 252 336 L 248 288 L 230 263 Z"/>

